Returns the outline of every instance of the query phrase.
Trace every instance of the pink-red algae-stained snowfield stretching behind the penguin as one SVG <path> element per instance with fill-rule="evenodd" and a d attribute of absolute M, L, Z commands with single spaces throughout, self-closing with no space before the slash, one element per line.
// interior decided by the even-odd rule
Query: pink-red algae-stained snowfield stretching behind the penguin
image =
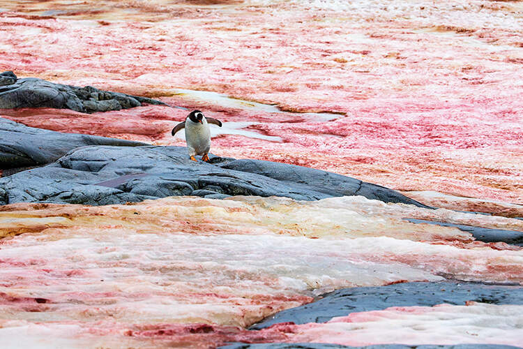
<path fill-rule="evenodd" d="M 403 191 L 513 203 L 523 197 L 520 3 L 2 6 L 0 47 L 9 54 L 0 66 L 21 77 L 157 97 L 245 123 L 239 124 L 245 132 L 213 140 L 215 154 L 332 170 Z M 244 107 L 194 98 L 188 90 L 241 98 Z M 340 114 L 326 121 L 298 113 L 323 111 Z M 185 115 L 166 107 L 1 114 L 29 126 L 183 145 L 168 131 Z M 268 138 L 251 137 L 257 134 Z"/>

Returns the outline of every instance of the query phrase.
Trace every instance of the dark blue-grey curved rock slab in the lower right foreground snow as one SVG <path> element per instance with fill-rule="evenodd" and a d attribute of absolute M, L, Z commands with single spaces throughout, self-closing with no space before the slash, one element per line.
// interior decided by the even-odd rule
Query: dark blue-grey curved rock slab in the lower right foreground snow
<path fill-rule="evenodd" d="M 442 303 L 464 305 L 467 301 L 523 304 L 523 286 L 438 281 L 344 288 L 327 293 L 316 302 L 280 311 L 252 325 L 250 329 L 262 329 L 280 322 L 326 322 L 337 316 L 382 310 L 390 306 L 434 306 Z"/>

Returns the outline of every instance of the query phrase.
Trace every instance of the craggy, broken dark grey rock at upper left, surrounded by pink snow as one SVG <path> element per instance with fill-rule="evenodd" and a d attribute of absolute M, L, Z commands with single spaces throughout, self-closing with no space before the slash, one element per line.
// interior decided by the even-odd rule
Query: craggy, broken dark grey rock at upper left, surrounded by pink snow
<path fill-rule="evenodd" d="M 50 107 L 91 113 L 138 107 L 142 103 L 164 105 L 151 98 L 102 91 L 91 86 L 55 84 L 34 77 L 17 79 L 12 71 L 0 74 L 0 109 Z"/>

